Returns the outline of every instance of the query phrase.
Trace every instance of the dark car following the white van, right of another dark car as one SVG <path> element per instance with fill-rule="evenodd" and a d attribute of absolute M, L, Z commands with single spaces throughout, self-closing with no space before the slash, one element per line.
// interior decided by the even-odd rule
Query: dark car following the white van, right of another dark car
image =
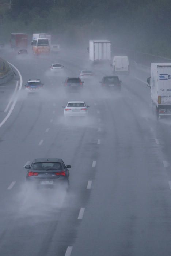
<path fill-rule="evenodd" d="M 118 76 L 104 76 L 102 82 L 99 83 L 102 84 L 102 87 L 107 89 L 121 90 L 121 81 Z"/>

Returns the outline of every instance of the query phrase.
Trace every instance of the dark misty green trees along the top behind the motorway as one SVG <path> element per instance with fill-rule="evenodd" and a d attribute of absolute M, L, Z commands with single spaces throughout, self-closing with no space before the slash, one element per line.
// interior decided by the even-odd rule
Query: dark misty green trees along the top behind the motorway
<path fill-rule="evenodd" d="M 170 0 L 13 0 L 4 34 L 39 31 L 171 57 Z M 169 54 L 169 56 L 168 56 Z"/>

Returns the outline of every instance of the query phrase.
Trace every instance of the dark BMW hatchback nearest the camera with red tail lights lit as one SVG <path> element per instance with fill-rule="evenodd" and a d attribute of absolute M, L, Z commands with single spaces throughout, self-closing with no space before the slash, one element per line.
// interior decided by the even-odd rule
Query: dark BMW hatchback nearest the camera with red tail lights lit
<path fill-rule="evenodd" d="M 58 158 L 34 159 L 31 166 L 26 165 L 28 173 L 26 180 L 29 184 L 38 187 L 57 187 L 59 184 L 66 188 L 69 186 L 69 170 L 71 165 L 66 165 Z"/>

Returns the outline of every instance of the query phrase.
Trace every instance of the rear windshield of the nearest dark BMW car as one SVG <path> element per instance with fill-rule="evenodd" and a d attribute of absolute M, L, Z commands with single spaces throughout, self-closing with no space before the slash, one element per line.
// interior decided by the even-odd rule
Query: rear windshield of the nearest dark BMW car
<path fill-rule="evenodd" d="M 34 163 L 31 169 L 32 170 L 46 170 L 46 171 L 48 169 L 61 170 L 62 165 L 61 165 L 61 163 L 58 163 L 58 162 L 38 162 L 38 163 Z"/>

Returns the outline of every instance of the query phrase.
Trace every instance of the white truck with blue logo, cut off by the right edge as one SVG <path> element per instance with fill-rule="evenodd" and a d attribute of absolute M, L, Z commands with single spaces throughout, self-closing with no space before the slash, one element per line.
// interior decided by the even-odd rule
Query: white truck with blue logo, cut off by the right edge
<path fill-rule="evenodd" d="M 153 113 L 158 119 L 171 116 L 171 63 L 151 63 L 147 86 L 151 87 Z"/>

